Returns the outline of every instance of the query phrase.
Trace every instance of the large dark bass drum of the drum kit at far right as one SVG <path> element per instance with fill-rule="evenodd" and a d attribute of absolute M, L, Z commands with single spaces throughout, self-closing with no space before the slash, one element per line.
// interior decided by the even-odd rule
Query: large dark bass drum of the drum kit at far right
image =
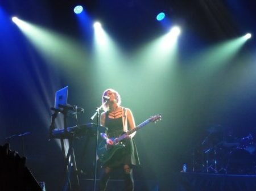
<path fill-rule="evenodd" d="M 255 156 L 245 148 L 237 147 L 229 152 L 228 174 L 245 174 L 250 175 L 255 173 Z"/>

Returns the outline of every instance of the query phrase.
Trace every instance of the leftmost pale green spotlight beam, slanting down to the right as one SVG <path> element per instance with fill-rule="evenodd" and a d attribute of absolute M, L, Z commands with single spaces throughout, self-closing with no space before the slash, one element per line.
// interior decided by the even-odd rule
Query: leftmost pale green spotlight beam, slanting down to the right
<path fill-rule="evenodd" d="M 20 19 L 15 23 L 48 62 L 61 66 L 64 71 L 72 73 L 88 60 L 86 50 L 75 40 Z"/>

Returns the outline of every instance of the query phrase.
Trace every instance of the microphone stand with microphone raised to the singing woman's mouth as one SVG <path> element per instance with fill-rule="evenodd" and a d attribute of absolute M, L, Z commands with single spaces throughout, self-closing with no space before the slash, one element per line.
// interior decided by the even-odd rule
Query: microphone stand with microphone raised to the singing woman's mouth
<path fill-rule="evenodd" d="M 105 101 L 106 103 L 106 101 Z M 94 117 L 97 115 L 97 134 L 96 134 L 96 148 L 95 148 L 95 159 L 94 159 L 94 184 L 93 184 L 93 190 L 96 191 L 96 177 L 97 177 L 97 156 L 98 156 L 98 130 L 100 126 L 100 111 L 103 107 L 104 103 L 96 109 L 96 112 L 93 114 L 93 116 L 90 118 L 90 120 L 93 120 Z"/>

